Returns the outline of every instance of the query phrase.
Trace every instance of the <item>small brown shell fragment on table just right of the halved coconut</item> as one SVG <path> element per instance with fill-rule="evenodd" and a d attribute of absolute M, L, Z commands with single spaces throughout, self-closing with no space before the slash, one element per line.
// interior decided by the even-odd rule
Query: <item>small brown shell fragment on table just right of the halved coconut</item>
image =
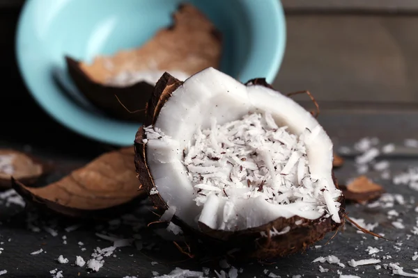
<path fill-rule="evenodd" d="M 348 183 L 347 186 L 340 186 L 340 188 L 347 200 L 359 203 L 377 199 L 385 193 L 385 189 L 382 186 L 373 183 L 366 176 L 357 177 Z"/>

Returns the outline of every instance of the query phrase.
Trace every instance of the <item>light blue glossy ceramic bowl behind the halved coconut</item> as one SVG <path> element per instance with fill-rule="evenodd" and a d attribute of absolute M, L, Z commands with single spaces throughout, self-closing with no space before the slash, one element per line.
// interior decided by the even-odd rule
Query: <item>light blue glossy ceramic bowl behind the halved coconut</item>
<path fill-rule="evenodd" d="M 27 0 L 17 28 L 16 51 L 29 91 L 49 115 L 73 131 L 112 145 L 132 145 L 140 124 L 111 119 L 85 103 L 73 90 L 64 56 L 91 61 L 100 54 L 138 47 L 171 24 L 171 14 L 182 2 Z M 187 2 L 222 31 L 220 70 L 242 82 L 256 77 L 273 81 L 286 44 L 279 0 Z M 57 85 L 54 74 L 68 90 Z"/>

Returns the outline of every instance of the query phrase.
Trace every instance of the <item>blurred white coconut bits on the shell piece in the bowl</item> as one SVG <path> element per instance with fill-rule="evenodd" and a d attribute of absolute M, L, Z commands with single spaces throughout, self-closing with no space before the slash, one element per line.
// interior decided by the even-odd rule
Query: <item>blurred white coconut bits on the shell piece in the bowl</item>
<path fill-rule="evenodd" d="M 132 71 L 126 71 L 121 72 L 120 74 L 117 74 L 116 76 L 111 77 L 110 79 L 107 79 L 106 84 L 107 85 L 113 85 L 117 87 L 125 87 L 129 85 L 133 85 L 134 83 L 139 82 L 146 82 L 150 83 L 152 85 L 155 85 L 157 83 L 158 79 L 164 74 L 164 70 L 142 70 L 139 72 L 132 72 Z M 184 81 L 189 77 L 189 74 L 186 74 L 185 72 L 180 71 L 167 71 L 172 76 L 176 77 L 176 79 L 180 81 Z"/>

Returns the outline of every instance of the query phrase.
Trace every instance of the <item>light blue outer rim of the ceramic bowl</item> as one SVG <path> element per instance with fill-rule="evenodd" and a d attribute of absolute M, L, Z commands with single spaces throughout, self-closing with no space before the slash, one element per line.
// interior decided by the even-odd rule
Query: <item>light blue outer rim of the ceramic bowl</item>
<path fill-rule="evenodd" d="M 65 113 L 61 113 L 59 108 L 55 108 L 55 106 L 49 105 L 49 101 L 47 100 L 47 97 L 45 97 L 45 94 L 43 93 L 43 90 L 40 90 L 38 88 L 39 86 L 36 85 L 36 82 L 31 82 L 30 80 L 30 70 L 24 63 L 24 51 L 20 51 L 20 40 L 22 39 L 22 36 L 25 33 L 25 26 L 28 26 L 26 21 L 28 20 L 28 10 L 29 5 L 33 3 L 33 1 L 26 1 L 24 3 L 24 6 L 22 7 L 22 11 L 20 13 L 19 20 L 17 22 L 17 32 L 15 36 L 15 52 L 17 56 L 17 65 L 20 69 L 20 74 L 22 75 L 22 78 L 24 79 L 24 83 L 26 85 L 26 88 L 31 93 L 31 96 L 35 101 L 38 103 L 40 107 L 43 108 L 44 111 L 47 112 L 49 116 L 54 118 L 57 122 L 62 124 L 63 126 L 67 127 L 68 129 L 75 131 L 79 133 L 82 136 L 85 136 L 86 138 L 89 138 L 91 140 L 97 140 L 100 142 L 104 142 L 110 145 L 132 145 L 134 141 L 134 134 L 132 134 L 132 140 L 129 142 L 129 140 L 126 140 L 126 138 L 123 135 L 120 135 L 118 131 L 115 129 L 100 129 L 100 127 L 96 126 L 96 124 L 110 124 L 111 127 L 119 129 L 121 133 L 129 133 L 130 130 L 137 130 L 141 123 L 128 123 L 128 122 L 121 122 L 119 120 L 114 120 L 110 118 L 100 117 L 100 115 L 93 115 L 91 111 L 84 111 L 83 108 L 75 108 L 75 110 L 79 111 L 80 113 L 84 112 L 84 115 L 88 115 L 90 117 L 90 120 L 93 121 L 91 124 L 80 124 L 79 120 L 74 120 L 72 117 L 67 117 L 68 115 L 65 115 Z M 249 3 L 252 3 L 253 0 L 247 0 Z M 281 1 L 279 0 L 264 0 L 263 3 L 265 5 L 270 4 L 271 10 L 274 10 L 274 14 L 277 15 L 273 18 L 274 22 L 271 25 L 276 26 L 277 33 L 279 34 L 277 37 L 275 37 L 274 45 L 276 46 L 276 50 L 272 55 L 270 56 L 270 64 L 268 67 L 265 67 L 266 74 L 265 76 L 249 76 L 246 78 L 245 81 L 248 79 L 256 78 L 256 77 L 265 77 L 265 79 L 272 83 L 274 78 L 277 76 L 277 73 L 279 72 L 279 69 L 281 67 L 281 62 L 284 57 L 284 52 L 286 49 L 286 19 L 284 15 L 283 6 L 281 5 Z M 267 24 L 264 23 L 263 24 Z M 265 27 L 265 26 L 264 26 Z M 272 28 L 272 27 L 271 27 Z M 271 38 L 270 38 L 271 39 Z M 263 43 L 263 42 L 258 42 Z M 270 41 L 271 43 L 271 41 Z M 251 56 L 251 55 L 250 55 Z M 257 57 L 252 56 L 249 58 L 248 64 L 251 66 L 251 63 L 257 63 Z M 245 69 L 248 70 L 249 67 L 245 67 Z M 251 70 L 249 70 L 251 71 Z M 245 70 L 242 76 L 246 76 Z M 54 90 L 54 88 L 52 88 Z M 59 89 L 56 89 L 59 90 Z M 77 104 L 74 104 L 77 106 Z M 129 132 L 127 132 L 129 130 Z"/>

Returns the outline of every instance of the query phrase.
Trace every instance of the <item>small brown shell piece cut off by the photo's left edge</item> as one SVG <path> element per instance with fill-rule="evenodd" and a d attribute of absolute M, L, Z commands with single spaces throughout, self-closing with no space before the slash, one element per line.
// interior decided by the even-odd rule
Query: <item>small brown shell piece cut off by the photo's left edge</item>
<path fill-rule="evenodd" d="M 37 158 L 13 149 L 0 149 L 0 188 L 10 188 L 11 178 L 31 184 L 35 183 L 49 167 Z"/>

